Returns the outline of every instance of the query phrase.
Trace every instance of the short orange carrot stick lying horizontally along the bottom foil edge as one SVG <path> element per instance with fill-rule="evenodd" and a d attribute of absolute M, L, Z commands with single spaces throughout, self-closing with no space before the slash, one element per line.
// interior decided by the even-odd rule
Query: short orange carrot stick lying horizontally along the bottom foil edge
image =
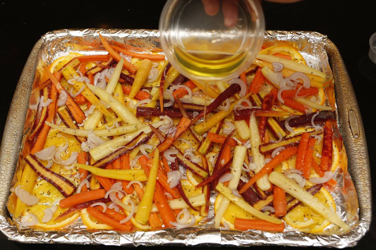
<path fill-rule="evenodd" d="M 234 226 L 236 229 L 240 230 L 255 229 L 261 231 L 283 232 L 285 229 L 285 223 L 274 224 L 265 220 L 250 220 L 240 218 L 235 218 Z"/>

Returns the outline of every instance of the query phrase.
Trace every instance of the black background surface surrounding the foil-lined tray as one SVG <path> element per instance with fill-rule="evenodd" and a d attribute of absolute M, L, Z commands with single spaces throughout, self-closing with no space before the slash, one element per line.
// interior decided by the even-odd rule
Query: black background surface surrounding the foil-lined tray
<path fill-rule="evenodd" d="M 0 2 L 0 135 L 27 57 L 41 35 L 60 28 L 158 28 L 165 1 Z M 309 30 L 326 34 L 340 50 L 352 80 L 367 136 L 371 175 L 376 157 L 374 99 L 376 65 L 368 58 L 370 36 L 376 32 L 375 1 L 305 0 L 293 4 L 262 1 L 267 30 Z M 376 184 L 373 185 L 376 193 Z M 358 194 L 361 195 L 361 194 Z M 374 199 L 373 207 L 376 207 Z M 373 213 L 373 221 L 375 222 Z M 373 249 L 376 226 L 356 249 Z M 0 233 L 0 249 L 67 249 L 61 244 L 29 245 L 9 241 Z M 80 246 L 99 249 L 102 246 Z M 106 247 L 108 248 L 108 247 Z M 267 247 L 282 249 L 282 247 Z"/>

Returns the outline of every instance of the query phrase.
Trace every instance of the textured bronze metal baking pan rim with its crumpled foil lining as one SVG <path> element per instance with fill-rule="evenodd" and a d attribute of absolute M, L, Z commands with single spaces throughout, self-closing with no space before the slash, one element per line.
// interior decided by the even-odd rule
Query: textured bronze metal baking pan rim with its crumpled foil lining
<path fill-rule="evenodd" d="M 83 39 L 88 40 L 96 36 L 96 32 L 105 33 L 118 41 L 132 41 L 133 44 L 145 47 L 159 47 L 158 30 L 56 30 L 51 31 L 33 47 L 29 58 L 18 81 L 8 119 L 5 124 L 4 135 L 0 150 L 0 230 L 10 239 L 22 243 L 74 243 L 74 244 L 105 244 L 122 246 L 139 245 L 232 245 L 232 246 L 326 246 L 351 247 L 365 235 L 371 222 L 371 181 L 367 144 L 362 119 L 355 97 L 355 93 L 343 63 L 340 52 L 326 36 L 310 31 L 266 31 L 266 40 L 287 40 L 300 43 L 305 51 L 317 52 L 327 67 L 332 71 L 335 82 L 335 97 L 339 124 L 339 137 L 347 150 L 348 172 L 344 183 L 347 185 L 346 201 L 355 202 L 356 216 L 359 219 L 352 225 L 352 230 L 346 234 L 306 234 L 296 231 L 284 233 L 270 233 L 261 231 L 221 231 L 210 227 L 188 229 L 165 229 L 152 232 L 120 233 L 117 231 L 93 231 L 85 228 L 68 227 L 62 231 L 41 231 L 36 229 L 20 229 L 12 221 L 8 213 L 6 202 L 9 188 L 14 184 L 14 172 L 18 166 L 20 149 L 23 148 L 27 126 L 25 124 L 29 97 L 35 76 L 36 66 L 45 61 L 51 62 L 53 56 L 64 51 L 63 42 Z M 321 47 L 320 47 L 321 46 Z M 323 50 L 324 48 L 324 50 Z M 47 52 L 50 51 L 50 52 Z M 52 52 L 51 52 L 52 51 Z M 79 51 L 77 51 L 79 52 Z M 309 64 L 317 67 L 317 60 L 310 58 Z M 330 67 L 329 67 L 330 66 Z M 346 180 L 347 179 L 347 180 Z M 12 182 L 13 181 L 13 182 Z M 355 187 L 354 187 L 355 186 Z M 356 197 L 356 193 L 361 194 Z M 357 203 L 359 204 L 359 210 Z M 359 212 L 359 213 L 357 213 Z M 343 211 L 347 213 L 347 211 Z M 346 215 L 345 215 L 346 216 Z"/>

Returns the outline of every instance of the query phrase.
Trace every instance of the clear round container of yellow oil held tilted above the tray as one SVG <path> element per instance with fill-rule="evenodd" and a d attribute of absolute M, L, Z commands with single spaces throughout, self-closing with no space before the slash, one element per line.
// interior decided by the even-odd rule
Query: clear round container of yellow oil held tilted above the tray
<path fill-rule="evenodd" d="M 201 0 L 168 0 L 159 19 L 162 48 L 171 65 L 200 82 L 238 77 L 259 52 L 265 31 L 259 1 L 227 1 L 216 15 L 205 13 Z M 237 4 L 237 5 L 235 5 Z M 238 11 L 232 27 L 223 12 Z M 234 11 L 232 11 L 234 13 Z"/>

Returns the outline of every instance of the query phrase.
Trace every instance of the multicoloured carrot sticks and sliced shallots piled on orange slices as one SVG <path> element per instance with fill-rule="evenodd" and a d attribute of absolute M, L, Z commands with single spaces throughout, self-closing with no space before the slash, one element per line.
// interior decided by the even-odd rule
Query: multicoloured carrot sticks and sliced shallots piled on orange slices
<path fill-rule="evenodd" d="M 21 226 L 186 228 L 214 206 L 215 228 L 349 230 L 330 194 L 346 155 L 326 75 L 297 48 L 265 43 L 239 78 L 205 92 L 160 51 L 99 36 L 108 54 L 37 70 L 8 201 Z"/>

